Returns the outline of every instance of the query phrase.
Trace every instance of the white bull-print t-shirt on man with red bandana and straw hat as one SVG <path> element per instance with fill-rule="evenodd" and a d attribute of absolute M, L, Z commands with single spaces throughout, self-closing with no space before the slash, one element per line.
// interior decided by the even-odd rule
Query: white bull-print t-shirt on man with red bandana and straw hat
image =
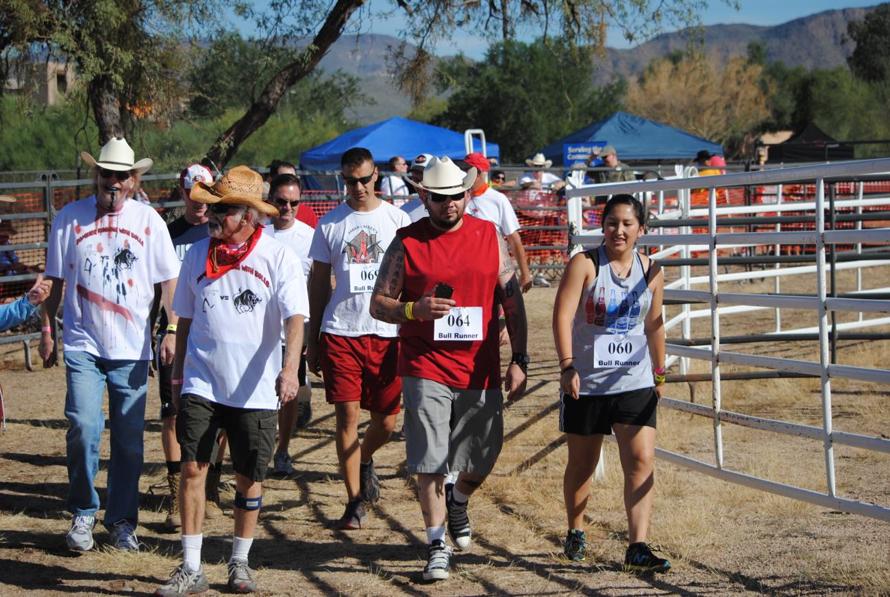
<path fill-rule="evenodd" d="M 183 394 L 230 407 L 278 407 L 281 322 L 309 317 L 299 258 L 261 234 L 254 250 L 220 278 L 206 277 L 210 239 L 191 246 L 182 262 L 173 308 L 191 319 Z"/>

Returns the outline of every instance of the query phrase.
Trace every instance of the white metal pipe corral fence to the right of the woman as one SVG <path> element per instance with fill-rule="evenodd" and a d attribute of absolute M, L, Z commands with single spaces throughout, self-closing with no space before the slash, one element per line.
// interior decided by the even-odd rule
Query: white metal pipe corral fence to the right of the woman
<path fill-rule="evenodd" d="M 667 205 L 665 201 L 658 202 L 661 206 L 659 209 L 661 220 L 658 223 L 662 226 L 679 227 L 675 230 L 676 233 L 668 236 L 667 230 L 659 230 L 660 234 L 646 235 L 640 238 L 637 244 L 651 247 L 654 250 L 651 256 L 659 259 L 663 267 L 679 268 L 679 277 L 665 286 L 665 299 L 666 303 L 682 305 L 681 312 L 673 319 L 667 320 L 666 317 L 666 329 L 669 335 L 670 330 L 679 327 L 682 338 L 675 340 L 668 337 L 667 363 L 672 365 L 679 361 L 681 373 L 679 377 L 682 380 L 696 378 L 711 380 L 712 405 L 706 407 L 691 401 L 670 398 L 663 399 L 661 405 L 713 419 L 714 464 L 661 448 L 657 449 L 658 456 L 674 464 L 750 488 L 843 512 L 854 512 L 890 521 L 890 508 L 837 496 L 833 450 L 835 444 L 841 444 L 890 453 L 890 440 L 839 432 L 834 429 L 831 417 L 833 378 L 890 383 L 890 371 L 886 369 L 837 365 L 836 360 L 832 358 L 832 347 L 837 342 L 840 330 L 890 324 L 888 317 L 868 319 L 863 317 L 864 313 L 890 312 L 890 300 L 886 299 L 890 288 L 880 287 L 863 291 L 860 274 L 857 277 L 857 292 L 841 296 L 837 295 L 834 278 L 836 270 L 856 269 L 861 272 L 888 264 L 890 252 L 887 251 L 887 243 L 890 243 L 890 228 L 886 226 L 887 221 L 890 221 L 890 214 L 886 212 L 886 208 L 890 206 L 890 197 L 886 191 L 872 197 L 865 196 L 865 189 L 870 184 L 872 175 L 877 174 L 886 181 L 888 172 L 890 172 L 890 159 L 875 159 L 766 172 L 705 176 L 696 179 L 621 182 L 596 187 L 597 193 L 650 193 L 652 196 L 667 193 L 674 194 L 677 198 L 676 206 L 673 208 L 664 207 Z M 843 179 L 842 184 L 848 185 L 845 194 L 849 198 L 837 197 L 837 186 L 834 182 L 837 179 Z M 733 205 L 729 200 L 732 198 L 733 190 L 752 187 L 771 190 L 774 200 L 771 203 L 760 201 L 758 205 Z M 696 191 L 696 189 L 703 190 Z M 805 200 L 786 203 L 789 189 L 794 189 L 794 192 L 799 193 Z M 582 199 L 592 192 L 593 190 L 589 188 L 580 188 L 566 193 L 569 198 L 572 231 L 570 242 L 575 246 L 573 250 L 576 252 L 580 250 L 580 245 L 598 244 L 603 238 L 602 232 L 584 231 Z M 693 201 L 693 197 L 701 193 L 707 197 L 705 204 L 700 200 Z M 813 199 L 809 200 L 810 197 Z M 874 211 L 868 214 L 867 210 Z M 789 213 L 796 215 L 778 215 Z M 844 214 L 851 217 L 841 220 Z M 873 219 L 868 219 L 870 215 Z M 838 230 L 841 222 L 845 223 L 848 230 Z M 881 227 L 864 230 L 863 224 Z M 786 225 L 795 228 L 785 228 Z M 739 227 L 742 227 L 741 230 L 748 228 L 746 231 L 739 231 Z M 835 230 L 831 230 L 832 228 Z M 752 250 L 756 247 L 766 247 L 772 254 L 754 254 Z M 788 253 L 788 247 L 792 247 L 793 253 L 799 254 L 783 254 Z M 839 247 L 850 247 L 852 250 L 836 251 Z M 707 256 L 694 256 L 703 253 L 707 253 Z M 813 265 L 781 267 L 783 263 L 789 262 L 812 262 Z M 749 270 L 721 273 L 721 266 L 731 263 L 745 265 Z M 693 276 L 694 265 L 707 265 L 707 275 Z M 781 277 L 813 273 L 817 287 L 815 295 L 780 294 Z M 756 278 L 774 278 L 775 294 L 728 293 L 718 289 L 720 283 Z M 708 285 L 707 290 L 693 289 L 693 286 L 704 284 Z M 704 303 L 707 308 L 693 311 L 693 303 Z M 665 309 L 667 313 L 667 307 Z M 722 316 L 763 309 L 772 309 L 775 312 L 775 332 L 741 338 L 721 337 Z M 781 309 L 816 311 L 819 314 L 819 325 L 814 328 L 783 330 Z M 836 311 L 858 312 L 859 318 L 853 322 L 837 323 L 833 320 Z M 713 338 L 698 340 L 692 338 L 691 320 L 706 316 L 711 319 Z M 888 337 L 880 334 L 863 336 Z M 724 348 L 725 343 L 749 343 L 765 338 L 773 342 L 818 339 L 819 361 L 746 354 L 727 351 Z M 710 375 L 687 375 L 689 359 L 710 361 Z M 821 427 L 724 410 L 721 406 L 721 379 L 739 378 L 739 374 L 721 375 L 721 366 L 724 363 L 769 369 L 780 375 L 820 378 Z M 756 372 L 752 376 L 773 375 L 759 375 L 759 372 Z M 671 377 L 668 376 L 668 382 L 670 381 Z M 762 431 L 820 440 L 825 459 L 825 493 L 724 468 L 723 424 L 739 424 Z"/>

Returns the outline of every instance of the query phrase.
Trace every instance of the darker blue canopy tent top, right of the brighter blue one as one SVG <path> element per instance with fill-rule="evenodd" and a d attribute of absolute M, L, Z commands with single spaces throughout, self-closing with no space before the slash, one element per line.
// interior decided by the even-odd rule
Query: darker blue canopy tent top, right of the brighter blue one
<path fill-rule="evenodd" d="M 563 164 L 567 144 L 611 145 L 620 160 L 686 160 L 701 149 L 712 155 L 723 155 L 719 143 L 702 139 L 673 126 L 661 125 L 625 112 L 616 112 L 593 125 L 554 141 L 542 150 L 554 164 Z"/>

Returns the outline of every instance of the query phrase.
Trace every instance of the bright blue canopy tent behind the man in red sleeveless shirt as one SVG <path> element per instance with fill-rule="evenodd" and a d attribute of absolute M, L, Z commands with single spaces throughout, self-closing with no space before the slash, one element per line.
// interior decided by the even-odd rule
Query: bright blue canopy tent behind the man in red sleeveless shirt
<path fill-rule="evenodd" d="M 421 153 L 452 159 L 462 159 L 466 155 L 463 133 L 408 118 L 392 117 L 303 151 L 300 154 L 300 167 L 303 170 L 339 170 L 340 156 L 352 147 L 370 149 L 378 163 L 392 156 L 402 156 L 410 163 Z M 481 151 L 478 141 L 473 149 Z M 495 143 L 486 142 L 485 149 L 489 157 L 500 157 L 500 148 Z"/>

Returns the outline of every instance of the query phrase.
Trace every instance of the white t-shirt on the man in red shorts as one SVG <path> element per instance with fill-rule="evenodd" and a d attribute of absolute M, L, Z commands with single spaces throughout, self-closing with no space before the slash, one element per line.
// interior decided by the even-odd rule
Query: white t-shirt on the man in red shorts
<path fill-rule="evenodd" d="M 386 248 L 395 231 L 410 223 L 408 214 L 385 201 L 370 212 L 357 212 L 342 203 L 322 216 L 309 256 L 330 263 L 336 279 L 321 321 L 322 332 L 351 337 L 399 335 L 397 326 L 372 318 L 368 310 Z"/>

